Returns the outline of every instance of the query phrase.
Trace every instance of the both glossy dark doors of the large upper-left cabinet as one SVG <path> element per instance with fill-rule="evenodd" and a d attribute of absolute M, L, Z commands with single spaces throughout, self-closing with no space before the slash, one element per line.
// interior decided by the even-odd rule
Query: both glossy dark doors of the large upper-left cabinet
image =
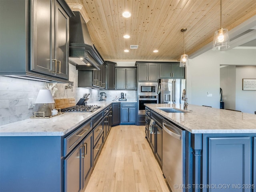
<path fill-rule="evenodd" d="M 31 5 L 31 70 L 68 79 L 68 14 L 57 0 Z"/>

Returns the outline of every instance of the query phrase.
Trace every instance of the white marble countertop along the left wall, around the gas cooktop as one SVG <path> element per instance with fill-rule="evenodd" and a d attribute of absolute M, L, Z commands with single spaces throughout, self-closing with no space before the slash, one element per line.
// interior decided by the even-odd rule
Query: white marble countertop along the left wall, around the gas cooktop
<path fill-rule="evenodd" d="M 66 112 L 52 118 L 30 118 L 2 125 L 0 136 L 63 136 L 111 103 L 109 101 L 88 103 L 88 105 L 101 106 L 94 112 Z"/>

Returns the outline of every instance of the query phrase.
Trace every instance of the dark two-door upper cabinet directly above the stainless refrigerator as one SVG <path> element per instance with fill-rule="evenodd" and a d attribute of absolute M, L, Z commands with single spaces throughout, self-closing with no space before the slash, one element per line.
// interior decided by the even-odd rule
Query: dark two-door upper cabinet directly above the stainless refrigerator
<path fill-rule="evenodd" d="M 160 79 L 185 78 L 185 69 L 180 67 L 179 62 L 160 63 Z"/>

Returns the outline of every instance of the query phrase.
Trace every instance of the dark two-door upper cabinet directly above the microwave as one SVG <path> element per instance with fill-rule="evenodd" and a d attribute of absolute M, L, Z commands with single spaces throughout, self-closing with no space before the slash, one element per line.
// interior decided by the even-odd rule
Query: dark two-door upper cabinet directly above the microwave
<path fill-rule="evenodd" d="M 138 82 L 158 81 L 158 64 L 136 62 L 138 66 Z"/>

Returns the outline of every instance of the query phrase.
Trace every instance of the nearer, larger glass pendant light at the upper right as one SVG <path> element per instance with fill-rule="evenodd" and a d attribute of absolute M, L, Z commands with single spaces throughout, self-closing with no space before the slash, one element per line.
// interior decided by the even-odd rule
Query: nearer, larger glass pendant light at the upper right
<path fill-rule="evenodd" d="M 228 29 L 222 28 L 222 0 L 220 0 L 220 28 L 214 33 L 212 50 L 224 50 L 229 47 Z"/>

